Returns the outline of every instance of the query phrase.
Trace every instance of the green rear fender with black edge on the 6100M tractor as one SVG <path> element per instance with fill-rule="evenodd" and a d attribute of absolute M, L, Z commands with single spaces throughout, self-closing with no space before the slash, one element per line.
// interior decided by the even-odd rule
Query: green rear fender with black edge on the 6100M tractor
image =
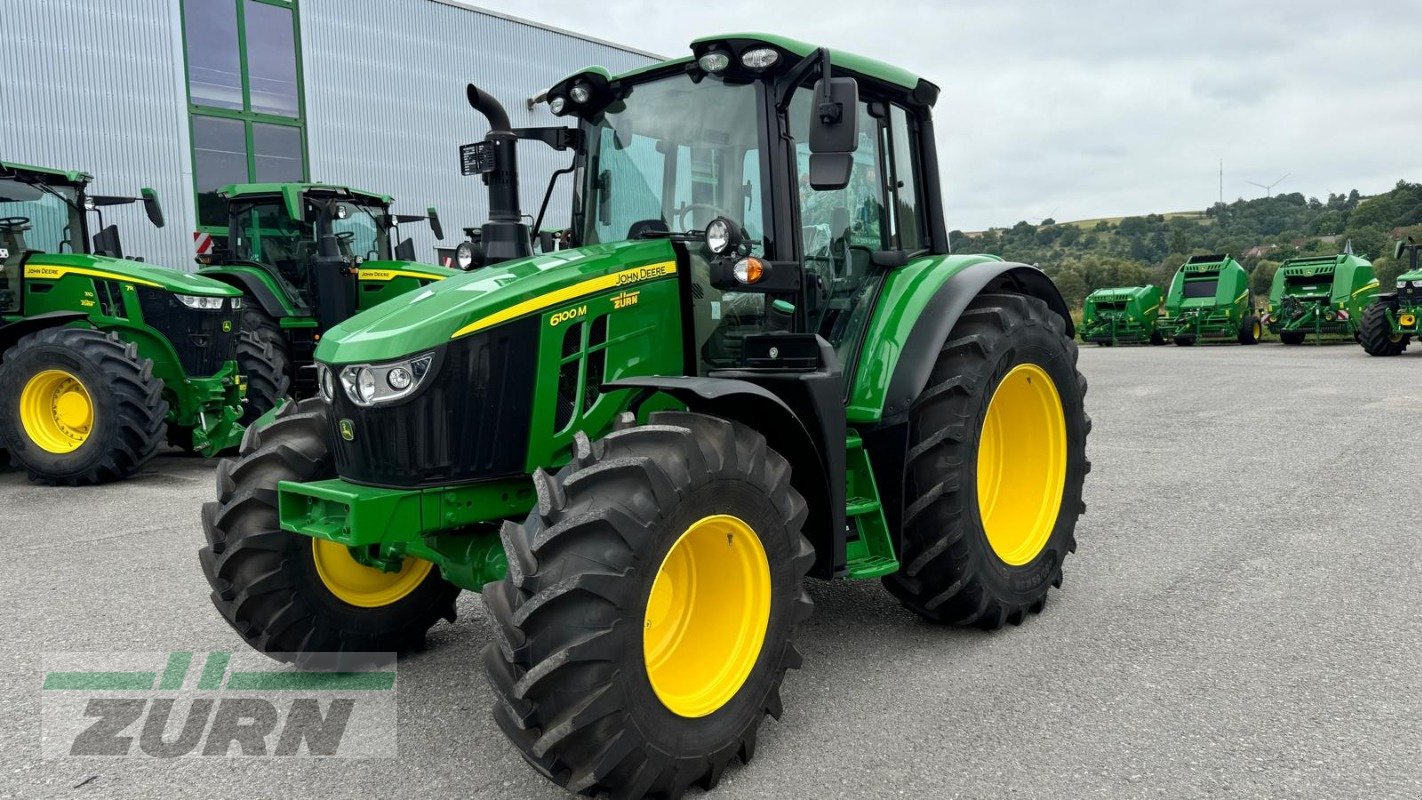
<path fill-rule="evenodd" d="M 846 415 L 872 423 L 909 412 L 929 384 L 939 350 L 974 297 L 1012 291 L 1041 298 L 1076 334 L 1071 311 L 1042 270 L 997 256 L 931 256 L 889 273 L 857 358 Z"/>

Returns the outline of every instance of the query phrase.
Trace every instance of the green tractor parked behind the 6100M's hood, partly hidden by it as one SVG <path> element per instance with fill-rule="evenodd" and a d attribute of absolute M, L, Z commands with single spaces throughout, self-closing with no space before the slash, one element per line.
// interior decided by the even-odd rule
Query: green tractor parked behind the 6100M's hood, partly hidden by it
<path fill-rule="evenodd" d="M 253 377 L 243 423 L 286 395 L 316 394 L 313 352 L 337 323 L 456 270 L 415 263 L 400 225 L 428 220 L 444 239 L 439 215 L 390 212 L 391 198 L 326 183 L 235 183 L 226 202 L 228 236 L 199 274 L 239 288 L 242 327 L 272 345 L 274 381 Z"/>

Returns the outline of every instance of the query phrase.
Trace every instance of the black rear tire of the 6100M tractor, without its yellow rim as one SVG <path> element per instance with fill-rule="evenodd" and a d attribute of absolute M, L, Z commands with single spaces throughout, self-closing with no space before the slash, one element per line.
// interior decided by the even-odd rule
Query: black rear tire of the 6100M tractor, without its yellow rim
<path fill-rule="evenodd" d="M 1039 612 L 1059 587 L 1062 561 L 1076 550 L 1082 483 L 1091 470 L 1084 408 L 1086 378 L 1076 344 L 1045 303 L 1021 294 L 973 300 L 939 352 L 909 421 L 903 567 L 884 585 L 934 622 L 994 629 Z M 1051 533 L 1031 560 L 1008 564 L 987 537 L 978 504 L 978 442 L 994 392 L 1008 371 L 1037 365 L 1062 406 L 1065 479 Z"/>

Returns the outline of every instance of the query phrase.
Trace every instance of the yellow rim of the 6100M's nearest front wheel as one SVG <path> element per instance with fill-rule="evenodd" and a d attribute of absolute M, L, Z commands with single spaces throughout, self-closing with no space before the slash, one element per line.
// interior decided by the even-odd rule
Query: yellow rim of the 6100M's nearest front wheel
<path fill-rule="evenodd" d="M 707 716 L 751 676 L 771 620 L 771 564 L 751 526 L 704 517 L 657 570 L 643 658 L 657 698 L 678 716 Z"/>

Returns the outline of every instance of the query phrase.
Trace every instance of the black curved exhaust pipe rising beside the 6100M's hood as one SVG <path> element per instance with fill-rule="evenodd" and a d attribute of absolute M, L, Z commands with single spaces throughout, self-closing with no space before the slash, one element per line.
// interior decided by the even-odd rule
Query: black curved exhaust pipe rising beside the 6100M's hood
<path fill-rule="evenodd" d="M 529 226 L 523 223 L 519 209 L 519 139 L 509 125 L 509 114 L 498 99 L 474 84 L 468 85 L 465 97 L 469 108 L 489 122 L 489 132 L 483 135 L 492 152 L 492 166 L 483 173 L 483 183 L 489 188 L 489 222 L 481 227 L 485 263 L 532 256 Z"/>

